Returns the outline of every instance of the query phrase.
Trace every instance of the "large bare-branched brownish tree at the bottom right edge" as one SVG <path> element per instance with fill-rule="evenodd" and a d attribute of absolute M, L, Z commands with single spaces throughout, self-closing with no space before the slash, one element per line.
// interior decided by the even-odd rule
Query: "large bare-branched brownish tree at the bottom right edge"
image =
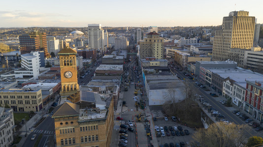
<path fill-rule="evenodd" d="M 193 139 L 201 147 L 240 147 L 248 138 L 248 129 L 248 125 L 244 124 L 213 123 L 207 129 L 198 129 Z"/>

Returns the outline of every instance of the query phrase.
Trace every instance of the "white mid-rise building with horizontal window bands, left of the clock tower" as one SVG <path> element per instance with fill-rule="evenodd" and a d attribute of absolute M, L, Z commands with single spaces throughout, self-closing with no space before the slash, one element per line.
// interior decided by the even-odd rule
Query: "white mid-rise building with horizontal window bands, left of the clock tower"
<path fill-rule="evenodd" d="M 21 69 L 15 71 L 16 78 L 33 77 L 37 79 L 40 68 L 40 54 L 38 51 L 31 51 L 21 55 Z"/>

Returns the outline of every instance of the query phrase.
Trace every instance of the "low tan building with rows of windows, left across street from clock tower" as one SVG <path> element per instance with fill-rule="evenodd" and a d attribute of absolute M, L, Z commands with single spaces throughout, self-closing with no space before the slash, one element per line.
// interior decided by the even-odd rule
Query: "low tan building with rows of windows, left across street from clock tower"
<path fill-rule="evenodd" d="M 43 107 L 41 89 L 1 89 L 0 103 L 9 105 L 15 112 L 38 112 Z"/>

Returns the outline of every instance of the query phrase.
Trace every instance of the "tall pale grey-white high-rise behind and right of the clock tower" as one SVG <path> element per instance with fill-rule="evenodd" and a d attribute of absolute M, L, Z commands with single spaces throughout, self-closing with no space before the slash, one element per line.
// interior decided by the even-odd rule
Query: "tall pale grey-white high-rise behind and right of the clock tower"
<path fill-rule="evenodd" d="M 89 24 L 89 49 L 104 49 L 104 31 L 101 24 Z"/>

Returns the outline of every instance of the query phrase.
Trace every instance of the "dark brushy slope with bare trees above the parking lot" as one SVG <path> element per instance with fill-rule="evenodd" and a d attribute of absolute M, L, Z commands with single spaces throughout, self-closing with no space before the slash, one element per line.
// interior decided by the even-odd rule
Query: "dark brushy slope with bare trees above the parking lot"
<path fill-rule="evenodd" d="M 201 122 L 201 108 L 195 101 L 188 103 L 185 100 L 175 103 L 175 108 L 172 109 L 172 104 L 164 105 L 164 112 L 167 116 L 176 116 L 180 121 L 178 123 L 189 126 L 191 128 L 203 128 Z"/>

